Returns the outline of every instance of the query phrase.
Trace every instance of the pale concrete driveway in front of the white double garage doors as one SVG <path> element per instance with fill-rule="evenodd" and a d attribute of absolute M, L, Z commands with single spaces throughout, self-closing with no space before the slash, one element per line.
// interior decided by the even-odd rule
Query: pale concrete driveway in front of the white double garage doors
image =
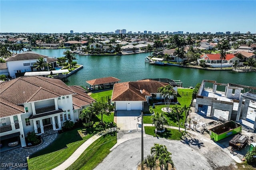
<path fill-rule="evenodd" d="M 117 127 L 120 128 L 120 130 L 117 133 L 117 144 L 115 145 L 115 147 L 129 139 L 141 137 L 141 128 L 139 128 L 137 125 L 137 118 L 139 115 L 141 115 L 140 110 L 117 111 L 116 122 Z M 139 119 L 139 121 L 141 121 L 141 118 Z M 146 137 L 145 132 L 144 136 Z"/>

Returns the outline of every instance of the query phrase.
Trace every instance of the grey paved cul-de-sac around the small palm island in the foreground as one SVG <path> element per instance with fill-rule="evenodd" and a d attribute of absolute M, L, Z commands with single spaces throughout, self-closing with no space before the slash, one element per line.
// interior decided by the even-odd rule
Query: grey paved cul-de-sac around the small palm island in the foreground
<path fill-rule="evenodd" d="M 136 170 L 141 159 L 140 143 L 141 139 L 136 138 L 118 145 L 95 170 Z M 180 141 L 144 137 L 144 158 L 150 154 L 150 148 L 154 143 L 166 145 L 172 152 L 172 160 L 177 170 L 212 170 L 204 156 Z"/>

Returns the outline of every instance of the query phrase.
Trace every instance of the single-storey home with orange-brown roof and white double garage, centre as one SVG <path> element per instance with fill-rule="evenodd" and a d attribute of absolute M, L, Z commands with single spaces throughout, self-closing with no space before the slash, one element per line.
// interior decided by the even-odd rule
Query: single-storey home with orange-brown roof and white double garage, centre
<path fill-rule="evenodd" d="M 138 80 L 136 82 L 121 82 L 114 84 L 111 102 L 114 102 L 115 110 L 143 110 L 144 102 L 151 98 L 161 99 L 158 88 L 169 85 L 152 79 Z M 174 87 L 177 90 L 177 87 Z"/>

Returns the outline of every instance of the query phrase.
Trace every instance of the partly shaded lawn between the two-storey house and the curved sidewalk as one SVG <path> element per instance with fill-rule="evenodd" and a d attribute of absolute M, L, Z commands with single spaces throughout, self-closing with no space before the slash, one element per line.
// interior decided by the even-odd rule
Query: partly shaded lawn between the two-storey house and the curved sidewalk
<path fill-rule="evenodd" d="M 64 162 L 73 152 L 82 145 L 87 139 L 108 128 L 110 122 L 114 122 L 114 113 L 103 116 L 105 127 L 99 125 L 100 115 L 92 119 L 94 127 L 84 129 L 83 127 L 67 131 L 58 135 L 57 139 L 48 147 L 32 154 L 28 160 L 28 166 L 31 170 L 50 170 Z"/>

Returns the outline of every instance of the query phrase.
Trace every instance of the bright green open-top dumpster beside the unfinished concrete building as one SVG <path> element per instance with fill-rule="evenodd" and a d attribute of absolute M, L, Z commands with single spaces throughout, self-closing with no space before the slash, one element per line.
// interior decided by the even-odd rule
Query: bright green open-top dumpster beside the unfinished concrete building
<path fill-rule="evenodd" d="M 242 132 L 242 126 L 234 121 L 228 121 L 222 125 L 209 129 L 212 140 L 220 141 L 226 137 Z"/>

